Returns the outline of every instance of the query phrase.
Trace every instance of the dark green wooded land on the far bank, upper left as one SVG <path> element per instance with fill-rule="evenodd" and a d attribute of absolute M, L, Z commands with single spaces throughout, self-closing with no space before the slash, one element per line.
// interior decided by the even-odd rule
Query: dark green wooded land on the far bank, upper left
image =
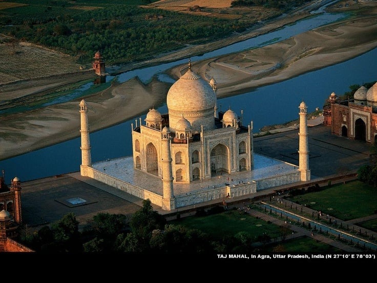
<path fill-rule="evenodd" d="M 96 51 L 107 64 L 121 64 L 218 40 L 255 23 L 248 17 L 216 18 L 137 6 L 147 2 L 14 0 L 12 8 L 2 9 L 0 29 L 19 41 L 75 56 L 79 64 L 91 62 Z"/>

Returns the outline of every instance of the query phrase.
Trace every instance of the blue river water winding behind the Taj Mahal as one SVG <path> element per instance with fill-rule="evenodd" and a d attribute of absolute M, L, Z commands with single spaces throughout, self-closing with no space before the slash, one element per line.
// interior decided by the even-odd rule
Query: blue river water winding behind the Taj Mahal
<path fill-rule="evenodd" d="M 205 58 L 266 46 L 338 21 L 345 16 L 345 14 L 320 13 L 295 25 L 286 26 L 244 42 L 192 57 L 191 60 L 195 62 Z M 142 82 L 148 83 L 154 75 L 157 75 L 160 80 L 173 83 L 174 80 L 164 72 L 169 68 L 186 63 L 187 59 L 182 59 L 174 63 L 124 72 L 117 77 L 119 82 L 126 82 L 128 79 L 138 76 Z M 253 120 L 254 132 L 258 132 L 263 126 L 282 124 L 297 119 L 299 117 L 298 107 L 302 100 L 307 104 L 308 112 L 312 112 L 316 107 L 322 108 L 325 99 L 331 92 L 342 95 L 349 91 L 350 85 L 375 82 L 377 69 L 374 66 L 376 65 L 377 49 L 373 49 L 340 64 L 308 72 L 284 82 L 260 87 L 240 95 L 219 99 L 218 107 L 225 111 L 231 106 L 232 110 L 239 115 L 243 110 L 243 124 Z M 113 78 L 113 76 L 108 76 L 107 80 Z M 81 86 L 74 93 L 67 95 L 67 100 L 83 96 L 82 91 L 85 89 L 88 89 L 88 85 Z M 64 102 L 64 97 L 59 98 L 59 103 L 61 102 Z M 53 103 L 51 102 L 51 104 Z M 166 113 L 166 104 L 157 107 L 157 110 Z M 79 119 L 78 109 L 77 117 Z M 145 115 L 141 118 L 143 120 Z M 135 123 L 135 121 L 129 120 L 117 126 L 91 133 L 92 161 L 132 155 L 131 123 Z M 75 138 L 2 160 L 0 161 L 0 170 L 5 171 L 5 180 L 8 184 L 11 178 L 15 176 L 22 181 L 27 181 L 76 172 L 79 171 L 80 164 L 80 138 Z"/>

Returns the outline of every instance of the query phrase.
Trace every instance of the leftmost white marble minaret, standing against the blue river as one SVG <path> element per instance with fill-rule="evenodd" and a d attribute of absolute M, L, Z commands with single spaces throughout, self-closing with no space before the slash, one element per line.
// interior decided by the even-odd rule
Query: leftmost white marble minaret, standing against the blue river
<path fill-rule="evenodd" d="M 80 116 L 81 116 L 81 176 L 88 176 L 88 167 L 92 166 L 92 157 L 90 154 L 90 140 L 89 140 L 89 123 L 88 123 L 88 105 L 84 99 L 80 102 Z"/>

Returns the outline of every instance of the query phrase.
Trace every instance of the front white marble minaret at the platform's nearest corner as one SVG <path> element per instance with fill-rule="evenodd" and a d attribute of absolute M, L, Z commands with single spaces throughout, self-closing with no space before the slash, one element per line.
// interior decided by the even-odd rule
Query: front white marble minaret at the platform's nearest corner
<path fill-rule="evenodd" d="M 170 150 L 171 143 L 170 130 L 164 127 L 161 131 L 161 169 L 162 169 L 162 209 L 163 210 L 174 210 L 175 209 L 175 198 L 173 191 L 173 169 L 172 169 L 172 154 Z"/>

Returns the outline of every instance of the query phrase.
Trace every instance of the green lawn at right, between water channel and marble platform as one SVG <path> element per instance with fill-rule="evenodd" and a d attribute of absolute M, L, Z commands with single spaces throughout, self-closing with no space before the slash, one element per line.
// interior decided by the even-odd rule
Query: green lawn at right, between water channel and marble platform
<path fill-rule="evenodd" d="M 376 188 L 357 180 L 287 199 L 347 221 L 374 214 L 377 203 L 372 200 L 376 197 Z"/>

